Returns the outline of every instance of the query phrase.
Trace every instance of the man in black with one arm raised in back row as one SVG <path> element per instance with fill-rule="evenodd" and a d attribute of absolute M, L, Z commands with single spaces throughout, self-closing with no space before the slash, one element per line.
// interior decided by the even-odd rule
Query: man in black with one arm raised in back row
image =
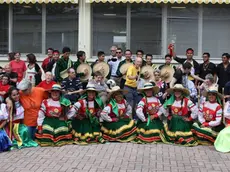
<path fill-rule="evenodd" d="M 173 49 L 173 51 L 174 51 L 174 49 Z M 187 58 L 179 58 L 173 52 L 173 59 L 175 61 L 177 61 L 178 63 L 180 63 L 180 64 L 184 64 L 186 62 L 191 63 L 191 65 L 192 65 L 191 74 L 192 75 L 199 75 L 199 73 L 200 73 L 200 65 L 196 60 L 193 59 L 193 55 L 194 55 L 194 50 L 192 48 L 188 48 L 186 50 Z M 189 79 L 194 81 L 194 78 L 189 78 Z"/>

